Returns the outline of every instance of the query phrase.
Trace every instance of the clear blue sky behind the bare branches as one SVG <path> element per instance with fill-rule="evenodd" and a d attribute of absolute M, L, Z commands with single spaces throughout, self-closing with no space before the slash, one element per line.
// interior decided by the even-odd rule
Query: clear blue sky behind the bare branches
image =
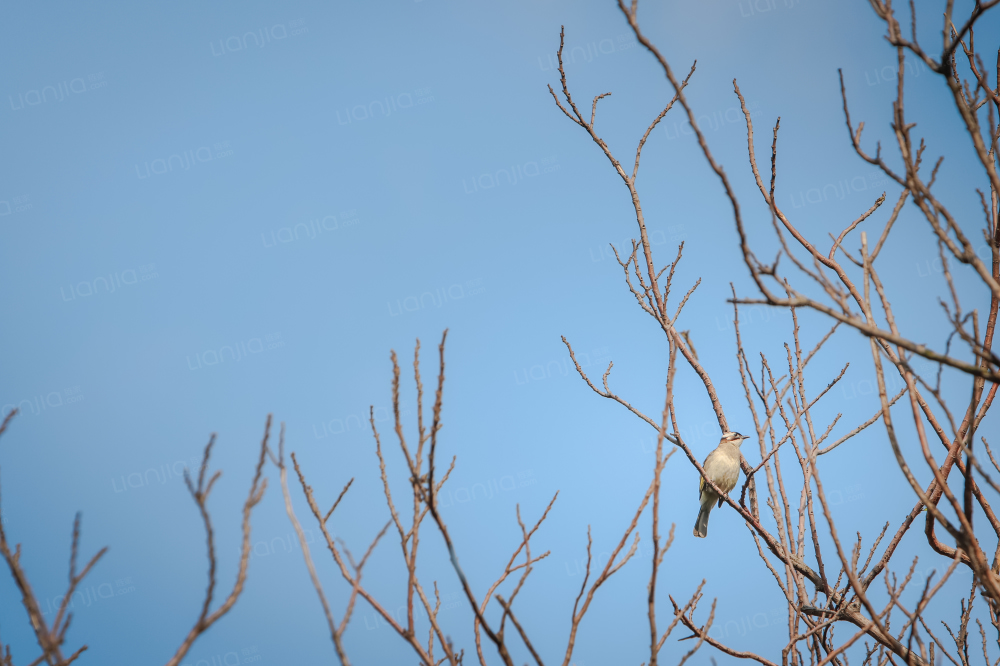
<path fill-rule="evenodd" d="M 781 116 L 778 202 L 821 245 L 886 188 L 850 148 L 837 83 L 843 68 L 855 122 L 868 121 L 867 140 L 890 148 L 895 56 L 867 3 L 648 3 L 640 17 L 676 71 L 697 59 L 689 99 L 760 256 L 773 254 L 774 241 L 747 167 L 733 78 L 759 123 L 758 146 L 769 145 Z M 458 456 L 447 518 L 462 561 L 483 589 L 516 543 L 515 504 L 537 517 L 559 490 L 539 535 L 552 555 L 533 574 L 521 616 L 536 627 L 536 645 L 561 654 L 586 526 L 595 552 L 617 541 L 648 484 L 652 431 L 574 376 L 560 336 L 593 374 L 613 360 L 612 386 L 650 414 L 662 408 L 666 367 L 662 333 L 632 302 L 607 249 L 636 233 L 628 194 L 546 90 L 558 82 L 564 24 L 571 90 L 579 100 L 613 91 L 598 131 L 629 161 L 670 95 L 614 4 L 74 3 L 58 12 L 7 6 L 3 19 L 0 403 L 23 410 L 0 448 L 3 519 L 43 599 L 62 593 L 74 512 L 84 516 L 84 553 L 110 546 L 88 579 L 93 602 L 78 604 L 69 634 L 90 645 L 81 663 L 164 662 L 190 628 L 204 539 L 183 482 L 165 470 L 193 465 L 212 432 L 213 461 L 225 471 L 211 505 L 223 588 L 268 413 L 287 424 L 321 504 L 357 479 L 333 522 L 362 549 L 387 519 L 362 426 L 370 405 L 377 416 L 390 408 L 389 350 L 408 364 L 420 338 L 429 385 L 445 328 L 442 446 Z M 981 34 L 996 28 L 993 20 Z M 921 27 L 928 42 L 936 29 Z M 939 187 L 977 229 L 967 185 L 979 176 L 943 84 L 916 67 L 907 90 L 931 151 L 954 148 Z M 638 186 L 659 263 L 683 240 L 679 283 L 686 290 L 703 278 L 682 327 L 731 425 L 752 431 L 725 303 L 730 282 L 743 295 L 752 285 L 728 204 L 677 110 L 647 143 Z M 883 277 L 901 320 L 940 344 L 946 329 L 926 313 L 928 299 L 946 293 L 936 249 L 915 210 L 899 225 L 905 233 L 887 246 Z M 970 308 L 984 302 L 979 292 L 968 298 Z M 748 350 L 780 365 L 787 314 L 744 316 Z M 823 322 L 803 319 L 809 344 Z M 843 412 L 854 424 L 876 411 L 867 350 L 841 332 L 815 362 L 814 393 L 852 363 L 824 417 Z M 719 434 L 710 405 L 688 369 L 678 386 L 682 433 L 704 456 Z M 412 382 L 403 398 L 412 409 Z M 386 437 L 388 425 L 380 419 Z M 898 524 L 913 500 L 882 433 L 873 428 L 831 457 L 825 485 L 841 498 L 841 532 L 871 538 L 884 520 Z M 389 464 L 405 484 L 401 459 Z M 333 659 L 269 476 L 246 592 L 185 663 Z M 756 556 L 732 513 L 713 514 L 709 539 L 689 536 L 696 483 L 680 456 L 671 461 L 663 501 L 678 537 L 662 594 L 686 598 L 707 578 L 727 639 L 783 645 L 781 597 L 759 562 L 749 572 L 738 564 Z M 499 490 L 476 495 L 476 484 Z M 648 544 L 648 522 L 642 529 Z M 422 571 L 457 595 L 439 541 L 428 529 Z M 907 557 L 926 554 L 917 534 L 905 543 Z M 344 589 L 318 544 L 314 555 L 339 613 Z M 645 558 L 630 564 L 598 594 L 576 664 L 644 658 L 647 568 Z M 387 605 L 398 601 L 401 570 L 387 540 L 369 573 Z M 16 598 L 0 577 L 4 640 L 25 661 L 32 638 Z M 355 663 L 413 658 L 369 608 L 357 613 L 346 639 Z M 442 618 L 471 648 L 468 609 L 457 604 Z"/>

